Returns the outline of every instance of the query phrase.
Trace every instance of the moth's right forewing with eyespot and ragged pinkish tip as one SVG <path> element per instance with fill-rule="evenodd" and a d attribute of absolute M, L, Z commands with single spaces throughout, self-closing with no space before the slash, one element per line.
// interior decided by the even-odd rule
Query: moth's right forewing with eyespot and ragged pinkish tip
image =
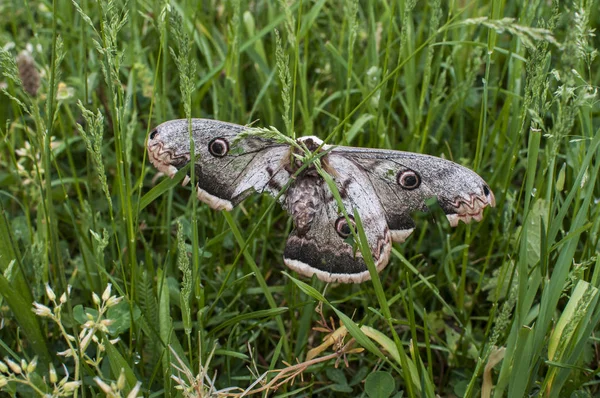
<path fill-rule="evenodd" d="M 413 231 L 414 211 L 427 211 L 436 198 L 452 226 L 480 221 L 483 209 L 494 206 L 494 194 L 477 173 L 449 160 L 411 152 L 337 147 L 330 159 L 354 162 L 381 203 L 392 239 L 402 242 Z"/>

